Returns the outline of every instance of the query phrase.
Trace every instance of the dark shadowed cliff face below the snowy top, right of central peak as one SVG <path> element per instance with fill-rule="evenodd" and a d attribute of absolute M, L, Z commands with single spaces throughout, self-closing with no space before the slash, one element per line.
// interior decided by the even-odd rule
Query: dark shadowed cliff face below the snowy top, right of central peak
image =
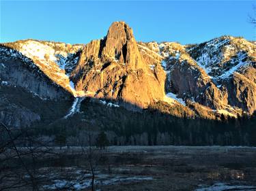
<path fill-rule="evenodd" d="M 171 91 L 180 97 L 193 98 L 197 103 L 212 109 L 223 109 L 228 104 L 227 90 L 217 88 L 202 69 L 188 60 L 176 62 L 170 75 Z"/>

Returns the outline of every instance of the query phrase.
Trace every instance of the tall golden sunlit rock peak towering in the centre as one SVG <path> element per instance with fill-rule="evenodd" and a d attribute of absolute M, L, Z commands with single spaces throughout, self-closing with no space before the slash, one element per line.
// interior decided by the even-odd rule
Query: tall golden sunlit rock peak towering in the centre
<path fill-rule="evenodd" d="M 83 48 L 71 77 L 76 90 L 141 108 L 164 95 L 164 71 L 152 71 L 141 58 L 132 29 L 124 22 L 113 22 L 104 39 Z"/>

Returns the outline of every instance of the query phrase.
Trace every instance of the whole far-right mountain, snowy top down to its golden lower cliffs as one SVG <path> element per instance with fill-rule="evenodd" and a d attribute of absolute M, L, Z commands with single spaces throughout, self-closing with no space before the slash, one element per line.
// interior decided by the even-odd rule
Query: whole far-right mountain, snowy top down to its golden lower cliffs
<path fill-rule="evenodd" d="M 187 48 L 225 97 L 225 105 L 255 111 L 256 46 L 241 37 L 224 36 Z M 221 98 L 220 98 L 221 99 Z M 223 99 L 222 99 L 223 100 Z"/>

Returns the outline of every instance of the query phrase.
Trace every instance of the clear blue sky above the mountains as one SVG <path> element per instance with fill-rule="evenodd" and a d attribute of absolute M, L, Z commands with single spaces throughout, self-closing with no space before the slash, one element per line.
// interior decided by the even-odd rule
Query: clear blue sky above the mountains
<path fill-rule="evenodd" d="M 255 40 L 254 1 L 0 0 L 0 41 L 44 39 L 86 44 L 124 20 L 137 41 L 199 43 L 221 35 Z"/>

